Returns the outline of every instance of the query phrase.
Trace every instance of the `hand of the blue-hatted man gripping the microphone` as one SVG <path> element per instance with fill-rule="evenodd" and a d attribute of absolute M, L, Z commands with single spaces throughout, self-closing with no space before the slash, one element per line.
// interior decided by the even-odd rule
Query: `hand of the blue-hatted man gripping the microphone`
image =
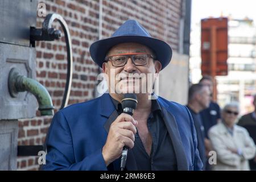
<path fill-rule="evenodd" d="M 122 113 L 115 119 L 110 126 L 108 138 L 102 148 L 106 166 L 121 156 L 124 146 L 133 148 L 137 125 L 138 122 L 129 114 Z"/>

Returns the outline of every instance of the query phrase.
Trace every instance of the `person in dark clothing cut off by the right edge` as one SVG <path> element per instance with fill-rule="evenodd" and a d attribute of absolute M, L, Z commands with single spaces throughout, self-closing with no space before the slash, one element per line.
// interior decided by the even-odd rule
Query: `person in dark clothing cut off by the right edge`
<path fill-rule="evenodd" d="M 253 138 L 254 143 L 256 143 L 256 95 L 254 95 L 254 111 L 249 114 L 243 115 L 237 125 L 245 127 L 245 129 L 249 132 L 250 137 Z M 249 160 L 250 169 L 256 171 L 256 156 Z"/>

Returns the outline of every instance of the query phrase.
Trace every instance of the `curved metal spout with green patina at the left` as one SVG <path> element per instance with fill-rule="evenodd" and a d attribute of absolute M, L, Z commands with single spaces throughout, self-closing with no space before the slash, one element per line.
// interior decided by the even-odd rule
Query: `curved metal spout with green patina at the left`
<path fill-rule="evenodd" d="M 8 88 L 12 97 L 16 97 L 19 92 L 32 93 L 38 100 L 41 115 L 53 115 L 54 107 L 47 89 L 38 81 L 20 75 L 16 68 L 12 68 L 9 73 Z"/>

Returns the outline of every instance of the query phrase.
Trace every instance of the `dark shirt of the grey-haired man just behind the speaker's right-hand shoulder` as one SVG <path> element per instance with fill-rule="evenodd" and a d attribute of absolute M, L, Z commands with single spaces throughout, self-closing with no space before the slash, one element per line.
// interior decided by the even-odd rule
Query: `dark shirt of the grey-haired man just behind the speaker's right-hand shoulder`
<path fill-rule="evenodd" d="M 196 137 L 197 137 L 197 149 L 199 150 L 199 155 L 204 165 L 203 169 L 205 170 L 207 158 L 205 155 L 205 146 L 204 146 L 204 138 L 205 138 L 204 125 L 201 120 L 200 113 L 195 113 L 195 111 L 193 111 L 189 106 L 187 107 L 194 121 L 195 129 L 196 129 Z"/>

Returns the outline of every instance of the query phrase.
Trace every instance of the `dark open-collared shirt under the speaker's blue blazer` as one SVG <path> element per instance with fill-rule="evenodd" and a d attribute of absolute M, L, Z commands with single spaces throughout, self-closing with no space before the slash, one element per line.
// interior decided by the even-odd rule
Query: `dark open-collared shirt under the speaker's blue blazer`
<path fill-rule="evenodd" d="M 113 98 L 112 101 L 118 114 L 121 114 L 122 105 Z M 162 110 L 157 100 L 152 100 L 147 127 L 152 137 L 150 156 L 148 156 L 138 132 L 135 135 L 134 147 L 131 149 L 137 162 L 138 170 L 177 170 L 174 146 L 164 124 Z"/>

